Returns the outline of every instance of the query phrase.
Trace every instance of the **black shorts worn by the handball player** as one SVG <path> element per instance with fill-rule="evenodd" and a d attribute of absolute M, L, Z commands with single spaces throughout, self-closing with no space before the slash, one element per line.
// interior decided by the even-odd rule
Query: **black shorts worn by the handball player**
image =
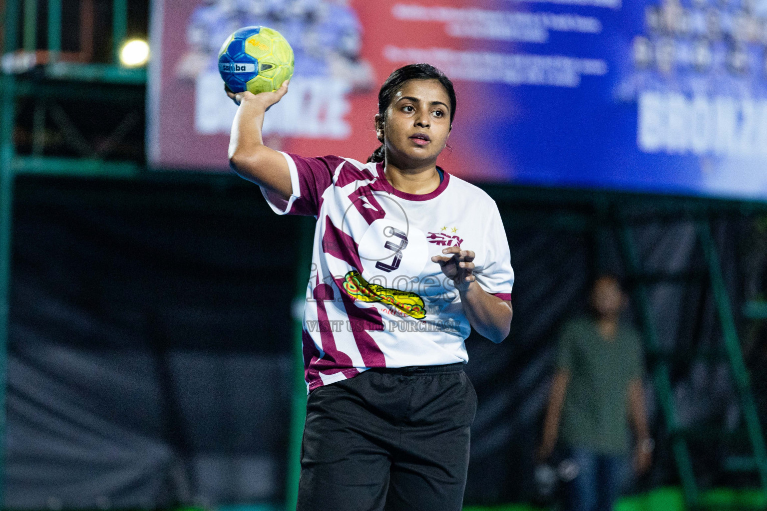
<path fill-rule="evenodd" d="M 476 404 L 463 363 L 368 369 L 314 389 L 298 511 L 460 511 Z"/>

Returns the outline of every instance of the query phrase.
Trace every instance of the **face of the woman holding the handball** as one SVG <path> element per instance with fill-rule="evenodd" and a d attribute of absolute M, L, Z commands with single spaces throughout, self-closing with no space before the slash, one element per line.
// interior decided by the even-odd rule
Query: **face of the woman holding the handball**
<path fill-rule="evenodd" d="M 450 98 L 439 80 L 407 80 L 385 118 L 376 116 L 378 139 L 400 166 L 436 162 L 450 133 Z"/>

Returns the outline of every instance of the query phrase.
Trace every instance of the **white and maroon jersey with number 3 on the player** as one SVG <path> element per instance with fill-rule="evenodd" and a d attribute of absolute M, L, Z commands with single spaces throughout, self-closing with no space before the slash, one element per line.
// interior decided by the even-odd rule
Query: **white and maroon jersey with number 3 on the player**
<path fill-rule="evenodd" d="M 282 154 L 292 195 L 262 187 L 266 201 L 278 215 L 317 218 L 303 321 L 308 390 L 373 367 L 468 362 L 469 320 L 431 257 L 455 245 L 474 251 L 482 289 L 511 300 L 495 201 L 445 171 L 436 190 L 413 195 L 387 182 L 382 163 Z"/>

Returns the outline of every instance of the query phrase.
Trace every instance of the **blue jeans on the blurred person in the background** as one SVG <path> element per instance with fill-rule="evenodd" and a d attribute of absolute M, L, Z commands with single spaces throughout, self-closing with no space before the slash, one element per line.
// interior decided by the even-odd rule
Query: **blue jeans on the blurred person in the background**
<path fill-rule="evenodd" d="M 624 483 L 627 457 L 582 448 L 571 448 L 569 457 L 578 466 L 578 475 L 565 483 L 565 511 L 612 511 Z"/>

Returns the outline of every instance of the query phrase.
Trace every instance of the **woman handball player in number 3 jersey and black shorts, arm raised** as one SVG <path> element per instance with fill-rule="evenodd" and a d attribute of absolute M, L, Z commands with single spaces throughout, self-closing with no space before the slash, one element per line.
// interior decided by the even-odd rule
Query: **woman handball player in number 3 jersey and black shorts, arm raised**
<path fill-rule="evenodd" d="M 459 511 L 476 414 L 464 339 L 509 335 L 514 272 L 495 201 L 436 165 L 453 84 L 429 64 L 393 71 L 367 163 L 264 146 L 287 92 L 227 89 L 232 169 L 278 215 L 317 218 L 298 509 Z"/>

